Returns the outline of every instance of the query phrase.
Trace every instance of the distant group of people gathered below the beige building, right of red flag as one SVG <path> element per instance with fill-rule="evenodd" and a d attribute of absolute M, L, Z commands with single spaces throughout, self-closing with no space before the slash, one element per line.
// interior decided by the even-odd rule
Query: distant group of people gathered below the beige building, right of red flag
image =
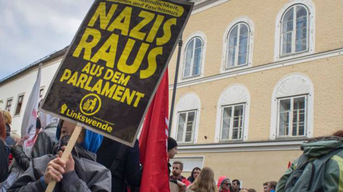
<path fill-rule="evenodd" d="M 173 159 L 177 154 L 177 142 L 169 137 L 168 138 L 168 157 Z M 214 171 L 210 167 L 194 167 L 191 175 L 186 178 L 182 176 L 184 164 L 181 161 L 174 161 L 173 165 L 168 163 L 168 167 L 172 168 L 169 181 L 174 182 L 180 186 L 180 188 L 188 188 L 196 192 L 256 192 L 252 188 L 242 188 L 241 182 L 238 179 L 232 181 L 226 176 L 220 176 L 215 181 Z M 170 173 L 170 169 L 169 169 Z M 263 183 L 264 192 L 274 192 L 276 189 L 276 181 L 269 181 Z"/>

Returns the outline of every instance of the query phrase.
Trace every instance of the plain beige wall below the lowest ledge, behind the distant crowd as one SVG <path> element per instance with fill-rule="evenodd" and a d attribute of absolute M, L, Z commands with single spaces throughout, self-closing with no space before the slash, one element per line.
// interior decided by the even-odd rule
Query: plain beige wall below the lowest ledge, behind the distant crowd
<path fill-rule="evenodd" d="M 243 181 L 244 188 L 254 188 L 263 191 L 262 184 L 266 181 L 278 181 L 286 171 L 289 161 L 300 156 L 302 151 L 249 151 L 205 153 L 204 167 L 214 170 L 215 179 L 227 176 L 230 180 Z M 178 156 L 197 155 L 182 153 Z M 183 174 L 189 176 L 189 173 Z"/>

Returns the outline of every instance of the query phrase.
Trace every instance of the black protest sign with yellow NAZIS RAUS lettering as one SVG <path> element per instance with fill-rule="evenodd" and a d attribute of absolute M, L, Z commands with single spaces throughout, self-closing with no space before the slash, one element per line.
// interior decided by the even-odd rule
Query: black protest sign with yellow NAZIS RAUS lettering
<path fill-rule="evenodd" d="M 41 110 L 133 146 L 192 6 L 179 0 L 96 0 Z"/>

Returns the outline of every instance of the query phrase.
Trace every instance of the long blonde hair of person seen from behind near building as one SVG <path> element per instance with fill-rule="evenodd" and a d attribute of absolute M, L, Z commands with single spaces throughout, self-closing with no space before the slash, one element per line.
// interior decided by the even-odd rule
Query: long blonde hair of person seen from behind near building
<path fill-rule="evenodd" d="M 190 190 L 195 192 L 218 192 L 218 188 L 214 181 L 214 172 L 210 167 L 201 169 L 200 174 L 194 181 Z"/>

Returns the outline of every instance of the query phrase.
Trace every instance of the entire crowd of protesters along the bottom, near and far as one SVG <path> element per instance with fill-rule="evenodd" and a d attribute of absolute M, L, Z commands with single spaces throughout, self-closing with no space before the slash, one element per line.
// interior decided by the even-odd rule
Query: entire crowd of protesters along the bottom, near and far
<path fill-rule="evenodd" d="M 61 156 L 75 125 L 59 120 L 58 123 L 42 126 L 37 118 L 33 149 L 31 155 L 27 156 L 23 149 L 27 136 L 20 138 L 11 135 L 11 122 L 10 113 L 0 111 L 0 192 L 44 191 L 52 180 L 57 182 L 57 192 L 139 191 L 142 166 L 139 162 L 138 140 L 131 148 L 83 128 L 72 153 L 64 161 Z M 171 160 L 177 154 L 177 147 L 177 142 L 168 137 L 169 181 L 176 183 L 180 191 L 257 191 L 243 186 L 243 182 L 236 178 L 215 178 L 210 167 L 194 167 L 191 175 L 184 177 L 184 164 Z M 261 183 L 264 192 L 341 189 L 343 131 L 309 139 L 301 144 L 301 150 L 304 153 L 289 166 L 278 182 Z"/>

